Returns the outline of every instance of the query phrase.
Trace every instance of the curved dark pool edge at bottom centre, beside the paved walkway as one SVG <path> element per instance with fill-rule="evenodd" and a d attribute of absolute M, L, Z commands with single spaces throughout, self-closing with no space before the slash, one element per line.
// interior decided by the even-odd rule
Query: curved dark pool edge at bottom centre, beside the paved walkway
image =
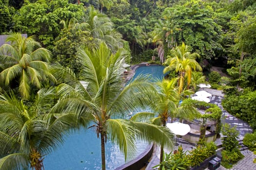
<path fill-rule="evenodd" d="M 115 170 L 140 170 L 151 158 L 154 149 L 154 144 L 148 145 L 148 147 L 144 150 L 143 153 L 140 153 L 135 159 L 126 164 L 123 164 L 116 168 Z"/>

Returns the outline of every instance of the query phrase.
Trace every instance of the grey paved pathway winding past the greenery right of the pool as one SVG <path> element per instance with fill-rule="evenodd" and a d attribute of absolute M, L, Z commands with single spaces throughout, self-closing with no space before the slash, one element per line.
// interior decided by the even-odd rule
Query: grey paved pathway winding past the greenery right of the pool
<path fill-rule="evenodd" d="M 222 110 L 222 120 L 221 122 L 224 123 L 229 123 L 232 127 L 236 126 L 236 129 L 239 131 L 239 139 L 242 140 L 244 135 L 246 133 L 252 133 L 253 130 L 252 128 L 246 123 L 245 121 L 242 121 L 240 119 L 237 119 L 236 117 L 230 115 L 227 111 L 225 111 L 221 105 L 221 100 L 223 99 L 223 94 L 221 93 L 220 90 L 215 90 L 211 88 L 204 88 L 204 89 L 199 89 L 199 90 L 205 90 L 209 93 L 211 93 L 213 96 L 211 98 L 211 103 L 217 104 L 218 107 L 221 108 Z M 221 145 L 221 139 L 218 138 L 215 143 L 217 145 Z M 178 138 L 178 144 L 179 146 L 182 145 L 182 148 L 184 151 L 190 151 L 193 148 L 195 148 L 194 143 L 190 143 L 186 140 L 183 140 L 181 138 Z M 175 149 L 177 149 L 178 146 L 175 146 Z M 156 170 L 153 167 L 159 164 L 159 147 L 156 147 L 152 159 L 150 160 L 148 166 L 146 167 L 146 170 Z M 244 158 L 236 163 L 230 170 L 256 170 L 256 164 L 253 163 L 253 159 L 256 158 L 256 155 L 249 151 L 249 150 L 244 150 L 241 151 L 241 153 L 244 155 Z M 208 170 L 208 169 L 206 169 Z M 217 170 L 226 170 L 224 167 L 220 166 L 217 168 Z"/>

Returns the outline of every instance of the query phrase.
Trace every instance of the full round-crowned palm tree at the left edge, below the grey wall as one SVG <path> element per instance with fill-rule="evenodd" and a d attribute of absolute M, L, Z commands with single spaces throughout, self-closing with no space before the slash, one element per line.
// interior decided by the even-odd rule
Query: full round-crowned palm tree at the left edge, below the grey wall
<path fill-rule="evenodd" d="M 6 38 L 9 44 L 0 47 L 0 81 L 7 86 L 19 84 L 19 91 L 26 100 L 30 98 L 32 86 L 40 88 L 49 79 L 55 81 L 49 72 L 51 52 L 42 48 L 34 36 L 11 34 Z"/>

